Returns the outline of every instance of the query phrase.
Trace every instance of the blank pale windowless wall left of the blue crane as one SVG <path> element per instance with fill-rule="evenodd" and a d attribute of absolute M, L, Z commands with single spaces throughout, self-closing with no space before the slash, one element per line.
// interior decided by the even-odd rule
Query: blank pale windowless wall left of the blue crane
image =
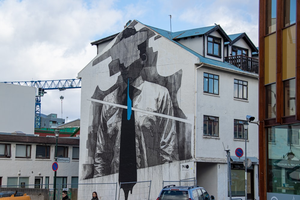
<path fill-rule="evenodd" d="M 35 88 L 0 83 L 0 132 L 34 134 Z"/>

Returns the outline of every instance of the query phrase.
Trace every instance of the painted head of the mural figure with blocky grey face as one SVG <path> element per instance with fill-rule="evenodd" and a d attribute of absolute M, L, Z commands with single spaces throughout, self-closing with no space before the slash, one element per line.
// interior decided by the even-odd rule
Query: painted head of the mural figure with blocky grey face
<path fill-rule="evenodd" d="M 119 52 L 112 52 L 119 60 L 119 70 L 125 82 L 134 82 L 140 76 L 147 61 L 147 31 L 136 31 L 134 27 L 127 27 L 120 34 L 113 46 Z M 112 56 L 114 57 L 114 56 Z"/>

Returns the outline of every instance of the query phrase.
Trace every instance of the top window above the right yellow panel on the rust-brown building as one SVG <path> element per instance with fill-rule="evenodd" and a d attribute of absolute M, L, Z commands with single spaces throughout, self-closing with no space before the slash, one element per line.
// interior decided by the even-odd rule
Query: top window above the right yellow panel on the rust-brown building
<path fill-rule="evenodd" d="M 296 0 L 284 0 L 283 26 L 296 22 Z"/>

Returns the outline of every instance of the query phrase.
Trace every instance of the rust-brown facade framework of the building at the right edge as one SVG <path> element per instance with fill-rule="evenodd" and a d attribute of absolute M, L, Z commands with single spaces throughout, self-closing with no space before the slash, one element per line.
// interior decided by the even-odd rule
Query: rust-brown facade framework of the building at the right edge
<path fill-rule="evenodd" d="M 270 0 L 259 1 L 259 198 L 260 200 L 267 199 L 268 191 L 268 127 L 276 127 L 284 124 L 300 123 L 300 1 L 296 1 L 296 22 L 289 25 L 296 26 L 296 65 L 295 65 L 295 115 L 284 116 L 284 85 L 283 85 L 283 29 L 284 27 L 284 3 L 286 1 L 277 0 L 276 2 L 276 117 L 267 118 L 267 95 L 265 75 L 265 52 L 268 46 L 265 46 L 265 37 L 268 37 L 274 32 L 267 33 L 267 14 L 268 2 Z M 274 83 L 274 82 L 273 82 Z M 288 141 L 286 141 L 288 143 Z"/>

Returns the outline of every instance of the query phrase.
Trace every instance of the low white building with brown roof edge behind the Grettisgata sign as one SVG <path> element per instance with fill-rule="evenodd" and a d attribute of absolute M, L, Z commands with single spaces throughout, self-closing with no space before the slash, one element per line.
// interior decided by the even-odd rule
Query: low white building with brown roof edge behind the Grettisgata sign
<path fill-rule="evenodd" d="M 0 186 L 53 188 L 55 144 L 55 137 L 0 133 Z M 64 159 L 57 161 L 56 184 L 77 188 L 79 137 L 58 137 L 57 156 Z"/>

